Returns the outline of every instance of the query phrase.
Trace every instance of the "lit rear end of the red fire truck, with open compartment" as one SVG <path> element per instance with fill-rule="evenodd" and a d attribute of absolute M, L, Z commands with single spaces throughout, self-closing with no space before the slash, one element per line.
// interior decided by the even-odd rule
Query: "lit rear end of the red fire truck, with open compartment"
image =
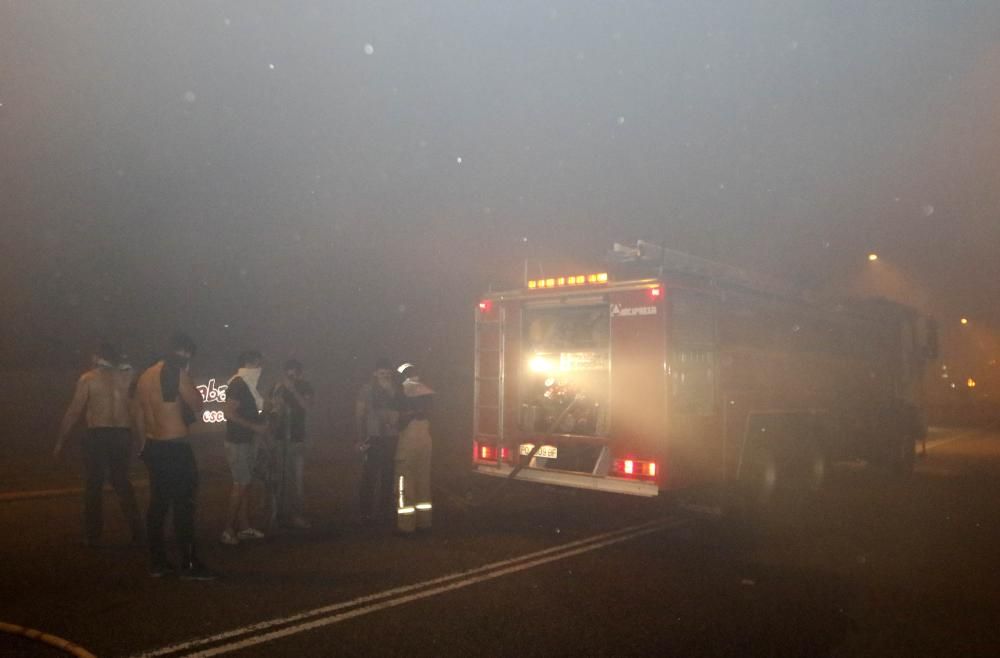
<path fill-rule="evenodd" d="M 479 304 L 473 462 L 485 475 L 653 496 L 665 482 L 662 284 L 535 279 Z"/>

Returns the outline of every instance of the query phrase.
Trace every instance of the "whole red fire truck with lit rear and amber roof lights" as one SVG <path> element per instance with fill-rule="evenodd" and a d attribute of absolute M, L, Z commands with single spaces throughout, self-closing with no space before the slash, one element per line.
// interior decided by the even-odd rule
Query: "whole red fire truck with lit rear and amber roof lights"
<path fill-rule="evenodd" d="M 701 487 L 765 502 L 828 465 L 912 468 L 929 318 L 820 302 L 640 242 L 616 271 L 492 292 L 475 320 L 473 469 L 635 496 Z"/>

